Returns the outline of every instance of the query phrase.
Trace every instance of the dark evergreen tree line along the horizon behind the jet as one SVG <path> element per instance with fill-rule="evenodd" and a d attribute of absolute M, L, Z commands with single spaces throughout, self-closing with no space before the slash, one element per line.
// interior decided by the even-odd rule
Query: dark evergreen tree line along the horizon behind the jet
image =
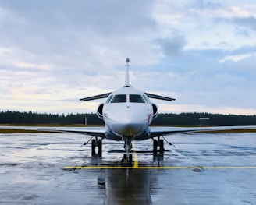
<path fill-rule="evenodd" d="M 41 114 L 32 111 L 1 111 L 0 124 L 85 124 L 104 125 L 94 113 L 77 114 Z M 152 125 L 256 125 L 256 115 L 222 115 L 211 113 L 165 113 L 159 114 Z"/>

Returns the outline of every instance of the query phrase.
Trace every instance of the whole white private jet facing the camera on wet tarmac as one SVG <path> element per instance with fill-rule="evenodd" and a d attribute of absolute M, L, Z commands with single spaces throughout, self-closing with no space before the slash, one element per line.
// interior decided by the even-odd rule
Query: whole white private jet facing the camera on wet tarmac
<path fill-rule="evenodd" d="M 144 93 L 135 89 L 129 82 L 129 58 L 126 58 L 125 84 L 112 93 L 99 94 L 91 97 L 81 98 L 80 101 L 94 101 L 106 98 L 105 103 L 98 105 L 97 115 L 105 122 L 104 127 L 17 127 L 12 129 L 44 130 L 80 133 L 91 136 L 91 154 L 101 154 L 102 139 L 116 140 L 124 142 L 122 164 L 132 164 L 131 154 L 133 140 L 153 140 L 153 152 L 164 152 L 164 140 L 169 143 L 164 136 L 174 133 L 190 133 L 198 131 L 213 131 L 225 129 L 255 129 L 256 126 L 225 126 L 225 127 L 155 127 L 150 126 L 153 119 L 158 116 L 158 106 L 151 103 L 150 98 L 162 101 L 175 101 L 171 97 L 156 94 Z M 0 129 L 10 127 L 0 126 Z M 94 138 L 94 139 L 92 139 Z M 89 143 L 87 141 L 84 145 Z M 172 145 L 172 143 L 169 143 Z"/>

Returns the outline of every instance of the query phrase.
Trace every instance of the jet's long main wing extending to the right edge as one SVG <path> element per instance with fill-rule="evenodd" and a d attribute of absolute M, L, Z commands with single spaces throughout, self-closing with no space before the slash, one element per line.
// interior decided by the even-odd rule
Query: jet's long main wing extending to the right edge
<path fill-rule="evenodd" d="M 256 126 L 217 126 L 217 127 L 151 127 L 151 137 L 175 133 L 215 132 L 224 130 L 256 129 Z"/>

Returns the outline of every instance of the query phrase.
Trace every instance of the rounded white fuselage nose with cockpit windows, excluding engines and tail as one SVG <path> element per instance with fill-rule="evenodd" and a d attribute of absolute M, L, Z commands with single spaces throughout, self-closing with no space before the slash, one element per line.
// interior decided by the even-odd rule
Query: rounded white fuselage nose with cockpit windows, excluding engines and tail
<path fill-rule="evenodd" d="M 131 86 L 112 92 L 102 110 L 106 137 L 121 140 L 123 136 L 133 140 L 148 139 L 148 125 L 153 119 L 153 107 L 148 96 Z"/>

